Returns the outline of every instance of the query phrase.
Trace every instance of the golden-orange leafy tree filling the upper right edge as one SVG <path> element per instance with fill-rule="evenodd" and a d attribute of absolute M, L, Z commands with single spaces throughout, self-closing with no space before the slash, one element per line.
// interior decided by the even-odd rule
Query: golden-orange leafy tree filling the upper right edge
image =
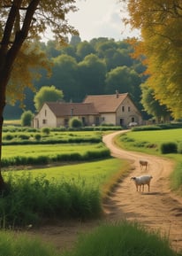
<path fill-rule="evenodd" d="M 120 0 L 125 2 L 124 0 Z M 146 85 L 166 105 L 174 118 L 182 117 L 182 2 L 180 0 L 128 0 L 133 28 L 140 28 L 141 41 L 133 41 L 135 57 L 147 64 Z"/>

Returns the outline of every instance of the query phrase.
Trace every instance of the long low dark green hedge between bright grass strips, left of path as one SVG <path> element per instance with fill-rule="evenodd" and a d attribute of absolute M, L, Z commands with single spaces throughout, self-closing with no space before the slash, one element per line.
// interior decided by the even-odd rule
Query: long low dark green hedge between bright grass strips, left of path
<path fill-rule="evenodd" d="M 110 150 L 102 149 L 99 151 L 86 151 L 83 155 L 79 152 L 72 152 L 70 154 L 57 154 L 54 156 L 16 156 L 14 158 L 2 159 L 2 167 L 21 166 L 21 165 L 46 165 L 53 162 L 66 161 L 86 161 L 95 159 L 110 158 Z"/>

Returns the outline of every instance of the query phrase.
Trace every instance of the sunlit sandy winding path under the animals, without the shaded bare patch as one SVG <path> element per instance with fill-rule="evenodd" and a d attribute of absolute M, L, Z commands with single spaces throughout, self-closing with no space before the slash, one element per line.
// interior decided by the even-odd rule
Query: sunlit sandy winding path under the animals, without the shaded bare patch
<path fill-rule="evenodd" d="M 125 132 L 125 131 L 122 131 Z M 149 229 L 160 230 L 170 238 L 172 247 L 182 250 L 182 198 L 169 189 L 169 175 L 173 163 L 164 158 L 143 153 L 124 151 L 113 144 L 114 136 L 121 131 L 103 137 L 103 142 L 110 148 L 111 154 L 120 159 L 131 161 L 133 171 L 114 191 L 106 207 L 109 221 L 139 221 Z M 148 160 L 148 170 L 140 169 L 139 159 Z M 136 192 L 131 176 L 152 175 L 150 192 L 146 186 L 144 192 Z"/>

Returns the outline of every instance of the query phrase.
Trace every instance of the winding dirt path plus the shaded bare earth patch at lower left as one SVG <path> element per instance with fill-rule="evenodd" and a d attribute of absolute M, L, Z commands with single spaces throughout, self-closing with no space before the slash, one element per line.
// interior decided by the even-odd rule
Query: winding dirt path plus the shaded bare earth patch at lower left
<path fill-rule="evenodd" d="M 118 131 L 103 137 L 103 142 L 110 148 L 111 154 L 119 159 L 131 161 L 132 173 L 121 182 L 108 200 L 105 208 L 106 221 L 140 221 L 148 229 L 160 230 L 161 234 L 169 236 L 174 250 L 182 250 L 182 198 L 175 196 L 169 189 L 169 175 L 173 163 L 168 159 L 149 156 L 133 151 L 117 148 L 112 139 Z M 148 170 L 140 170 L 139 159 L 147 159 Z M 131 176 L 153 176 L 151 190 L 136 192 Z M 90 231 L 99 225 L 101 220 L 76 222 L 64 221 L 55 225 L 46 225 L 41 229 L 28 231 L 30 236 L 38 235 L 42 240 L 55 244 L 57 248 L 72 248 L 77 237 L 82 232 Z"/>

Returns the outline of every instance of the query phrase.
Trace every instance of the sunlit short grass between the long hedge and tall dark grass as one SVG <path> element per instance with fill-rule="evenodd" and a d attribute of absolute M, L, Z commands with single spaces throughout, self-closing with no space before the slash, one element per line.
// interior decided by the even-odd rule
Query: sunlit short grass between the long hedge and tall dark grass
<path fill-rule="evenodd" d="M 70 182 L 76 185 L 87 184 L 99 189 L 102 197 L 110 191 L 110 188 L 118 182 L 118 179 L 128 170 L 125 161 L 120 159 L 105 159 L 89 163 L 76 165 L 66 165 L 62 167 L 42 167 L 27 171 L 11 171 L 13 177 L 19 177 L 31 173 L 35 178 L 37 176 L 45 176 L 46 179 L 56 182 Z M 3 172 L 4 178 L 7 179 L 9 172 Z"/>

